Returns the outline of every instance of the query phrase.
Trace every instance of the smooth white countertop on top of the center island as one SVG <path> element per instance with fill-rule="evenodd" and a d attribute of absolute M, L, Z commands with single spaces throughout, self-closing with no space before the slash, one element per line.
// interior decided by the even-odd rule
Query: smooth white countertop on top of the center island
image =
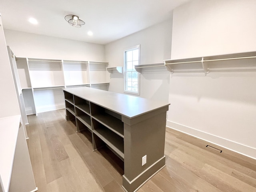
<path fill-rule="evenodd" d="M 169 105 L 168 102 L 148 100 L 89 87 L 65 88 L 63 90 L 128 118 L 134 118 Z"/>

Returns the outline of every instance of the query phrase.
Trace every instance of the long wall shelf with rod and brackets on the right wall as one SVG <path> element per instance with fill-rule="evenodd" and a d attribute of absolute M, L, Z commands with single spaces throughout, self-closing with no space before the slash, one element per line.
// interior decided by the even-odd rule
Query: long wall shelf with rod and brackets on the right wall
<path fill-rule="evenodd" d="M 256 58 L 256 51 L 243 52 L 234 54 L 224 54 L 216 56 L 165 60 L 164 65 L 171 72 L 187 72 L 187 71 L 204 71 L 208 74 L 211 70 L 256 70 L 256 62 L 232 62 L 230 60 L 245 60 Z M 228 64 L 228 65 L 224 65 Z M 177 65 L 182 66 L 182 69 L 177 68 Z"/>

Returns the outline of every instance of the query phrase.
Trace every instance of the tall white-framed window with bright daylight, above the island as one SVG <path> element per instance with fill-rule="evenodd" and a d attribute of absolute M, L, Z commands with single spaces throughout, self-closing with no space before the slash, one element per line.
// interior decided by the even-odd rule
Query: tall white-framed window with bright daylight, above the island
<path fill-rule="evenodd" d="M 140 64 L 140 45 L 124 51 L 124 92 L 140 95 L 140 74 L 134 65 Z"/>

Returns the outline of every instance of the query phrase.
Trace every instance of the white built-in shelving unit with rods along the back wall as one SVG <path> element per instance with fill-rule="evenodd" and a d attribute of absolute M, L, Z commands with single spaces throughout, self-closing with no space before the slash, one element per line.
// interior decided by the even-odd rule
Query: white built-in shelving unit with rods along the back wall
<path fill-rule="evenodd" d="M 27 115 L 64 108 L 62 88 L 108 90 L 108 62 L 16 57 L 16 63 Z"/>

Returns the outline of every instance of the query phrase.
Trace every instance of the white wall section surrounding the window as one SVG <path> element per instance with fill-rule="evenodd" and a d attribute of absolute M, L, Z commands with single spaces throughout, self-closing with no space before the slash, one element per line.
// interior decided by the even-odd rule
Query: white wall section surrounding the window
<path fill-rule="evenodd" d="M 111 42 L 105 46 L 109 66 L 124 66 L 124 50 L 140 44 L 140 64 L 152 64 L 170 59 L 172 21 L 168 20 Z M 109 90 L 124 93 L 124 75 L 108 74 Z M 164 68 L 143 69 L 140 74 L 140 97 L 168 102 L 169 72 Z"/>

